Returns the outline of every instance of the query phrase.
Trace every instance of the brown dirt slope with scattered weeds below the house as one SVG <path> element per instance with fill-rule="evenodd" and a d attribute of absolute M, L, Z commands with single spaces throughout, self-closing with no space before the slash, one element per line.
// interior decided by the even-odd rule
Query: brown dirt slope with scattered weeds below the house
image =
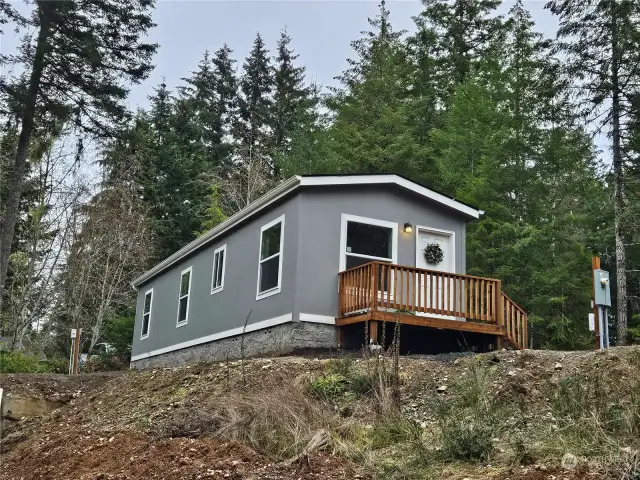
<path fill-rule="evenodd" d="M 1 378 L 0 386 L 14 394 L 56 396 L 59 390 L 67 403 L 12 427 L 0 454 L 0 478 L 640 478 L 640 462 L 638 477 L 623 477 L 635 461 L 627 457 L 640 449 L 640 438 L 634 441 L 629 430 L 637 421 L 640 432 L 640 401 L 633 410 L 640 348 L 401 358 L 399 414 L 381 413 L 375 394 L 314 396 L 310 385 L 317 393 L 318 379 L 336 376 L 328 370 L 331 362 L 283 357 L 126 372 L 78 389 L 62 376 L 41 383 L 33 376 Z M 370 364 L 356 359 L 343 373 L 361 375 Z M 583 389 L 577 379 L 589 383 Z M 565 392 L 574 384 L 577 390 Z M 598 393 L 591 395 L 593 385 Z M 574 398 L 583 391 L 584 399 Z M 447 458 L 443 405 L 476 397 L 496 419 L 490 454 Z M 592 427 L 582 419 L 594 415 L 593 402 L 618 412 L 624 425 L 604 425 L 601 435 L 585 437 Z M 571 413 L 585 405 L 583 416 Z M 482 419 L 463 424 L 473 422 Z M 293 461 L 324 431 L 321 448 Z M 606 449 L 591 446 L 611 438 Z M 575 462 L 567 464 L 566 455 Z M 610 473 L 620 462 L 618 473 Z"/>

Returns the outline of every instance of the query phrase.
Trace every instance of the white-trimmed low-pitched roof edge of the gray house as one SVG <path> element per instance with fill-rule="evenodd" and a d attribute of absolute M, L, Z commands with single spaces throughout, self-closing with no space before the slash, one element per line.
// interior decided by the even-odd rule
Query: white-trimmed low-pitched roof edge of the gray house
<path fill-rule="evenodd" d="M 456 210 L 462 215 L 467 216 L 468 218 L 480 218 L 480 215 L 484 213 L 482 210 L 478 210 L 475 207 L 462 203 L 455 198 L 436 192 L 431 188 L 425 187 L 423 185 L 420 185 L 419 183 L 409 180 L 408 178 L 396 174 L 296 175 L 280 183 L 278 186 L 265 193 L 262 197 L 258 198 L 253 203 L 247 205 L 239 212 L 227 218 L 224 222 L 218 224 L 205 234 L 199 236 L 192 242 L 182 247 L 174 254 L 165 258 L 155 267 L 151 268 L 150 270 L 133 280 L 133 282 L 131 282 L 131 285 L 134 288 L 139 287 L 143 283 L 151 280 L 156 275 L 162 273 L 166 269 L 178 263 L 195 250 L 215 240 L 217 237 L 221 236 L 228 230 L 231 230 L 233 227 L 252 217 L 258 212 L 269 208 L 270 205 L 277 202 L 284 196 L 290 194 L 294 190 L 297 190 L 298 188 L 340 185 L 397 185 L 431 201 L 440 203 L 441 205 Z"/>

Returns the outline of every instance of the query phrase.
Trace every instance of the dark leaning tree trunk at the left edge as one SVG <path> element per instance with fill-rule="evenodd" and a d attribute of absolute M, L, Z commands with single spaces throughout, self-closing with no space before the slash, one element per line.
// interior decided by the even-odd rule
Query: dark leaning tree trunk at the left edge
<path fill-rule="evenodd" d="M 0 312 L 2 311 L 2 292 L 4 291 L 4 284 L 7 279 L 11 245 L 18 220 L 22 186 L 27 173 L 27 157 L 29 155 L 29 146 L 34 128 L 36 101 L 38 99 L 40 80 L 45 66 L 45 56 L 49 50 L 49 22 L 51 20 L 50 9 L 52 8 L 54 7 L 47 1 L 38 3 L 40 30 L 38 32 L 36 52 L 33 58 L 31 76 L 29 78 L 29 88 L 21 115 L 18 146 L 13 164 L 9 166 L 7 203 L 4 207 L 3 215 L 0 218 Z"/>

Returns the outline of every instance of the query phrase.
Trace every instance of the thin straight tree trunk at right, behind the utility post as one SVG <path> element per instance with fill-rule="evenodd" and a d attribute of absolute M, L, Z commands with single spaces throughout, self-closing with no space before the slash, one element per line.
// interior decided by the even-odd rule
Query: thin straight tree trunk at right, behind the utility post
<path fill-rule="evenodd" d="M 627 258 L 624 249 L 624 171 L 620 141 L 620 51 L 616 2 L 611 2 L 611 120 L 613 141 L 614 214 L 616 237 L 617 344 L 627 343 Z"/>

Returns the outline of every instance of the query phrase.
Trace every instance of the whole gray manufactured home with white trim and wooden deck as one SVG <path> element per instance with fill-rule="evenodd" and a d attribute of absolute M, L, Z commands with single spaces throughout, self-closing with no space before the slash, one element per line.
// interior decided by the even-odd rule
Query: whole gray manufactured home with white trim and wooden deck
<path fill-rule="evenodd" d="M 464 275 L 481 213 L 397 175 L 293 177 L 134 280 L 132 365 L 355 348 L 399 317 L 516 345 L 499 281 Z"/>

